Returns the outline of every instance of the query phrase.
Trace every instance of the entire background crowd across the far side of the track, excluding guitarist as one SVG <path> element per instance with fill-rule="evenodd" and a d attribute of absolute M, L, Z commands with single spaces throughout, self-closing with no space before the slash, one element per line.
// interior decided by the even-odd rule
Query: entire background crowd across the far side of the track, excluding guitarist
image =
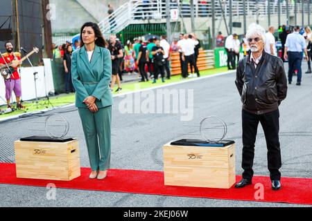
<path fill-rule="evenodd" d="M 290 71 L 293 74 L 298 75 L 298 84 L 301 82 L 301 63 L 295 61 L 300 59 L 300 55 L 296 58 L 288 56 L 293 51 L 300 51 L 297 48 L 289 48 L 289 43 L 286 44 L 286 39 L 291 32 L 294 32 L 295 28 L 281 26 L 279 28 L 279 39 L 281 41 L 280 52 L 278 53 L 275 40 L 275 27 L 270 26 L 268 32 L 266 32 L 266 46 L 264 50 L 271 55 L 279 56 L 283 61 L 286 57 L 290 64 Z M 305 41 L 306 47 L 306 59 L 308 61 L 309 69 L 306 71 L 307 74 L 311 73 L 311 42 L 312 32 L 309 26 L 306 26 L 304 30 L 299 30 L 300 36 Z M 293 40 L 290 40 L 293 41 Z M 182 79 L 190 77 L 200 77 L 200 72 L 197 66 L 197 60 L 200 49 L 200 41 L 196 35 L 183 34 L 181 33 L 179 39 L 173 39 L 172 44 L 168 43 L 166 36 L 153 36 L 150 35 L 149 39 L 144 37 L 135 37 L 133 41 L 128 40 L 125 45 L 122 44 L 120 39 L 116 35 L 112 34 L 110 39 L 107 41 L 107 48 L 110 50 L 112 55 L 112 82 L 111 90 L 114 85 L 117 84 L 115 92 L 120 92 L 121 82 L 123 81 L 123 75 L 131 73 L 136 75 L 141 82 L 152 81 L 153 84 L 157 83 L 157 79 L 160 77 L 162 82 L 166 79 L 171 79 L 171 53 L 179 52 L 180 55 L 180 66 Z M 229 70 L 236 69 L 236 65 L 239 63 L 241 52 L 244 56 L 247 56 L 250 52 L 250 42 L 246 37 L 239 40 L 239 35 L 236 33 L 227 36 L 223 36 L 222 32 L 218 32 L 216 36 L 216 46 L 224 47 L 227 53 L 227 68 Z M 288 47 L 287 47 L 288 45 Z M 65 90 L 66 93 L 74 92 L 74 88 L 71 83 L 71 53 L 74 50 L 80 48 L 80 41 L 76 40 L 73 44 L 67 41 L 66 44 L 61 46 L 55 46 L 53 44 L 53 57 L 63 58 L 64 66 L 64 79 L 65 79 Z M 288 50 L 285 52 L 285 48 Z M 278 55 L 279 54 L 279 55 Z M 301 52 L 302 54 L 302 52 Z M 299 66 L 300 64 L 300 66 Z M 289 74 L 289 80 L 291 77 Z"/>

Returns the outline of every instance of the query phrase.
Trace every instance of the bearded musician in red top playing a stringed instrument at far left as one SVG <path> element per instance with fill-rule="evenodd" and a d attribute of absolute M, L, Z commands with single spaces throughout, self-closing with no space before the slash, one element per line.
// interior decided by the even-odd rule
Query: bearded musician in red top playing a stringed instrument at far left
<path fill-rule="evenodd" d="M 21 61 L 19 61 L 21 59 L 21 54 L 19 52 L 13 52 L 13 45 L 11 41 L 7 41 L 4 46 L 6 47 L 7 52 L 3 54 L 5 61 L 3 61 L 3 58 L 0 57 L 0 67 L 6 66 L 6 63 L 9 64 L 15 60 L 15 62 L 11 65 L 15 71 L 12 73 L 10 79 L 4 80 L 4 84 L 6 84 L 6 102 L 8 104 L 8 108 L 12 109 L 10 106 L 10 99 L 13 90 L 16 96 L 17 108 L 23 109 L 25 107 L 21 105 L 21 79 L 17 71 L 17 68 L 21 66 Z"/>

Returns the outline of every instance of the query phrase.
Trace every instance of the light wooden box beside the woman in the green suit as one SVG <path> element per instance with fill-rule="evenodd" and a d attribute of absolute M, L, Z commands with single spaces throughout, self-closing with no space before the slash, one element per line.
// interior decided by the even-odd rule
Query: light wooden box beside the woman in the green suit
<path fill-rule="evenodd" d="M 73 180 L 80 176 L 78 140 L 69 142 L 15 142 L 18 178 Z"/>

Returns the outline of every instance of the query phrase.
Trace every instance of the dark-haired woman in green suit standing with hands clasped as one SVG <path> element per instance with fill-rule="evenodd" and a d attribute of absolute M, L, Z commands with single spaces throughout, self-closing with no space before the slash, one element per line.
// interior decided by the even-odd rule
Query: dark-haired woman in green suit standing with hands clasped
<path fill-rule="evenodd" d="M 71 75 L 76 107 L 83 124 L 90 166 L 90 179 L 103 180 L 110 168 L 112 60 L 96 23 L 87 22 L 80 32 L 80 49 L 73 52 Z"/>

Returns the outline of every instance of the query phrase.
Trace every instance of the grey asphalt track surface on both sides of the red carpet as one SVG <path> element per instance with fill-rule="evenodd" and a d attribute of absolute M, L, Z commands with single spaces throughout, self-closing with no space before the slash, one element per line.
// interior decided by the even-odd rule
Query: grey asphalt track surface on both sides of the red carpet
<path fill-rule="evenodd" d="M 304 72 L 306 67 L 306 62 L 304 62 L 302 65 Z M 111 167 L 114 169 L 162 171 L 162 145 L 182 138 L 179 133 L 198 132 L 197 128 L 183 125 L 199 124 L 204 117 L 218 115 L 228 124 L 226 138 L 236 142 L 236 174 L 241 174 L 241 101 L 234 79 L 235 74 L 232 73 L 166 87 L 169 90 L 193 89 L 194 115 L 190 122 L 182 122 L 180 114 L 173 113 L 121 113 L 119 103 L 124 101 L 125 97 L 114 98 Z M 295 81 L 295 79 L 293 80 Z M 153 91 L 155 92 L 155 90 Z M 302 86 L 295 84 L 288 86 L 288 96 L 279 108 L 282 176 L 312 177 L 311 96 L 312 75 L 303 74 Z M 35 131 L 31 131 L 38 127 L 35 126 L 37 125 L 35 122 L 44 122 L 46 116 L 51 113 L 62 113 L 67 118 L 71 126 L 69 136 L 78 137 L 80 140 L 81 166 L 89 167 L 83 128 L 75 107 L 2 122 L 0 124 L 0 162 L 14 162 L 13 142 L 19 140 L 20 137 L 35 134 Z M 259 126 L 256 142 L 254 175 L 269 175 L 266 142 L 261 126 Z M 57 189 L 56 199 L 47 200 L 47 191 L 43 187 L 0 184 L 0 206 L 302 206 L 71 189 Z"/>

